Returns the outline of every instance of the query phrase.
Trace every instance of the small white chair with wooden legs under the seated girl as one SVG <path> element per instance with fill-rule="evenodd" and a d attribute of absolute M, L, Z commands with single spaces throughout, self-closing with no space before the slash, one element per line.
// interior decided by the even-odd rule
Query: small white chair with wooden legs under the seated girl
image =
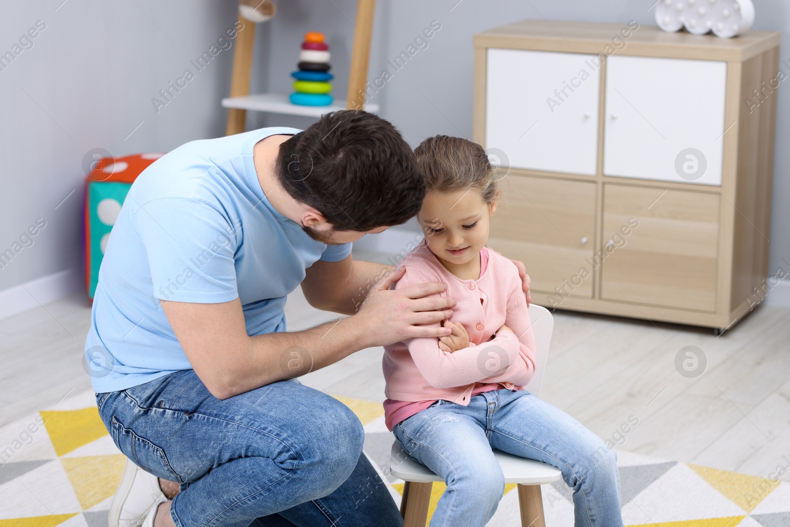
<path fill-rule="evenodd" d="M 543 382 L 554 320 L 546 308 L 535 304 L 529 306 L 529 320 L 532 322 L 532 333 L 535 335 L 536 373 L 525 388 L 537 395 L 540 392 L 540 384 Z M 494 450 L 494 455 L 502 467 L 505 483 L 518 484 L 518 503 L 521 508 L 522 527 L 545 527 L 540 485 L 559 480 L 562 477 L 562 472 L 556 467 L 540 461 L 513 456 L 499 450 Z M 431 503 L 431 487 L 433 487 L 434 481 L 442 481 L 442 478 L 424 465 L 414 461 L 403 450 L 397 439 L 393 442 L 392 451 L 389 454 L 389 469 L 393 476 L 406 482 L 401 499 L 401 516 L 403 516 L 404 527 L 425 527 L 428 505 Z"/>

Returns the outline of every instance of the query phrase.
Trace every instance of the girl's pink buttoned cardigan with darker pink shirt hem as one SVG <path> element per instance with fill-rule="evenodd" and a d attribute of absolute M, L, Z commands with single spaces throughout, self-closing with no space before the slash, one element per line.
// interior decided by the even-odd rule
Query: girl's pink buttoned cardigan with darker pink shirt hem
<path fill-rule="evenodd" d="M 412 338 L 385 347 L 384 414 L 390 431 L 438 399 L 466 406 L 477 393 L 500 386 L 521 390 L 529 382 L 535 372 L 535 338 L 513 262 L 484 247 L 480 278 L 461 280 L 445 269 L 423 240 L 401 266 L 405 273 L 396 289 L 423 282 L 447 285 L 436 296 L 457 300 L 450 320 L 467 330 L 469 346 L 447 353 L 438 347 L 437 338 Z M 495 335 L 503 324 L 513 333 Z"/>

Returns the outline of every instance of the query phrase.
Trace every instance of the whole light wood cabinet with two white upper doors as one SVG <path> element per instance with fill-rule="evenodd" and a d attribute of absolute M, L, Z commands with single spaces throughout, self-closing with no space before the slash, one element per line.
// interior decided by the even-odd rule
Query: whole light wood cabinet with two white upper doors
<path fill-rule="evenodd" d="M 717 329 L 750 311 L 778 32 L 528 20 L 474 43 L 475 141 L 507 165 L 489 245 L 525 262 L 534 302 Z"/>

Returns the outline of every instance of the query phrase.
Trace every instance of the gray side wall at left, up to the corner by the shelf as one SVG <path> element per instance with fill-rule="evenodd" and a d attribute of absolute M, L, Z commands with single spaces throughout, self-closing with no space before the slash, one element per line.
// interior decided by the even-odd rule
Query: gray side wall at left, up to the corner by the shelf
<path fill-rule="evenodd" d="M 158 113 L 151 100 L 187 68 L 197 71 L 190 60 L 235 23 L 235 0 L 61 2 L 2 0 L 0 54 L 36 21 L 46 28 L 0 71 L 0 252 L 36 218 L 47 227 L 0 269 L 0 291 L 81 266 L 86 152 L 166 151 L 224 134 L 218 100 L 232 51 L 220 51 Z"/>

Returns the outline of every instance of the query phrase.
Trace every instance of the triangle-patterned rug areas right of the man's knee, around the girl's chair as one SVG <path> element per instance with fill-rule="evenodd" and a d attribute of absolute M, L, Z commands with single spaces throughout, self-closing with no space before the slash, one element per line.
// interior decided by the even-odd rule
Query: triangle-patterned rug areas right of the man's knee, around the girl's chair
<path fill-rule="evenodd" d="M 367 422 L 360 417 L 366 431 L 365 452 L 374 465 L 388 466 L 393 435 L 384 425 L 381 403 L 337 398 L 358 415 L 358 408 L 367 408 L 368 416 L 377 416 Z M 626 527 L 790 527 L 790 483 L 786 481 L 623 451 L 617 456 Z M 784 468 L 790 469 L 790 458 Z M 383 479 L 402 492 L 401 480 L 392 475 Z M 511 492 L 514 487 L 506 485 L 488 525 L 520 527 L 518 495 Z M 434 483 L 429 520 L 444 489 L 444 484 Z M 541 493 L 547 527 L 574 525 L 572 489 L 560 480 L 541 485 Z M 399 495 L 393 497 L 400 503 Z"/>

